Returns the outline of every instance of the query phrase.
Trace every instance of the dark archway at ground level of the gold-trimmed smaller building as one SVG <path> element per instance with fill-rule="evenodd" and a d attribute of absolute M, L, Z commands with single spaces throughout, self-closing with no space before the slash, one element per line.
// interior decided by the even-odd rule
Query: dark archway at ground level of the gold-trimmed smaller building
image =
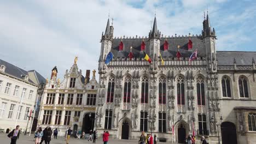
<path fill-rule="evenodd" d="M 89 134 L 90 130 L 94 130 L 95 113 L 85 113 L 83 118 L 82 132 Z"/>

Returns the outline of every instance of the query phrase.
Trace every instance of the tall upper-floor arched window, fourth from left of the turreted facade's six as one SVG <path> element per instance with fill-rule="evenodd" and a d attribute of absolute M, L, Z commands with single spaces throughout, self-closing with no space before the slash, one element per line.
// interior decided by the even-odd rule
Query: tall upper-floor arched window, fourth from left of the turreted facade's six
<path fill-rule="evenodd" d="M 164 76 L 159 78 L 158 93 L 159 104 L 166 104 L 166 80 Z"/>

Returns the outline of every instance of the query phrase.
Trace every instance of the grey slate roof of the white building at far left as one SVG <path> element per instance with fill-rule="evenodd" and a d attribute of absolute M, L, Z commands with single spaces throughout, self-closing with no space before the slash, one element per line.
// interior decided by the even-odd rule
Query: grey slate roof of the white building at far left
<path fill-rule="evenodd" d="M 2 59 L 0 59 L 0 65 L 4 65 L 5 66 L 5 70 L 4 73 L 9 74 L 11 76 L 17 77 L 18 79 L 24 79 L 25 75 L 28 75 L 28 72 L 24 69 L 21 69 L 13 64 L 10 64 L 8 62 L 3 61 Z M 37 73 L 37 72 L 36 72 Z M 39 74 L 39 73 L 38 73 Z M 40 75 L 40 74 L 39 74 Z M 41 75 L 40 75 L 41 76 Z M 40 77 L 39 76 L 39 77 Z M 43 78 L 44 79 L 44 78 Z M 42 77 L 40 77 L 40 80 L 42 80 Z M 37 85 L 36 83 L 34 83 L 32 80 L 29 79 L 28 77 L 28 82 Z"/>

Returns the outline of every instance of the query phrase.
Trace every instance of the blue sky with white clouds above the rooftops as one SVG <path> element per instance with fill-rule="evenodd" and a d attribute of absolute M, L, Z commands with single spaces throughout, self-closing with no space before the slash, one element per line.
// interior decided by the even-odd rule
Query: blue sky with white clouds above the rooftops
<path fill-rule="evenodd" d="M 0 1 L 0 58 L 63 79 L 75 56 L 78 67 L 96 69 L 108 11 L 114 37 L 147 36 L 156 18 L 164 35 L 201 34 L 203 11 L 216 29 L 217 50 L 255 51 L 256 1 Z"/>

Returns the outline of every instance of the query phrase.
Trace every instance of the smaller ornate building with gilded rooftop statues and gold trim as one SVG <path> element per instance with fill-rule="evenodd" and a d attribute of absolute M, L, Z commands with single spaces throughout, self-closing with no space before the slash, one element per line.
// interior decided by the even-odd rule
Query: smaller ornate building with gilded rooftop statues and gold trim
<path fill-rule="evenodd" d="M 51 79 L 46 79 L 45 89 L 40 105 L 39 125 L 59 129 L 59 135 L 65 135 L 66 129 L 85 131 L 94 129 L 96 95 L 98 83 L 95 70 L 90 80 L 90 70 L 85 77 L 78 70 L 77 57 L 70 70 L 66 70 L 64 79 L 56 79 L 57 68 L 54 67 Z"/>

